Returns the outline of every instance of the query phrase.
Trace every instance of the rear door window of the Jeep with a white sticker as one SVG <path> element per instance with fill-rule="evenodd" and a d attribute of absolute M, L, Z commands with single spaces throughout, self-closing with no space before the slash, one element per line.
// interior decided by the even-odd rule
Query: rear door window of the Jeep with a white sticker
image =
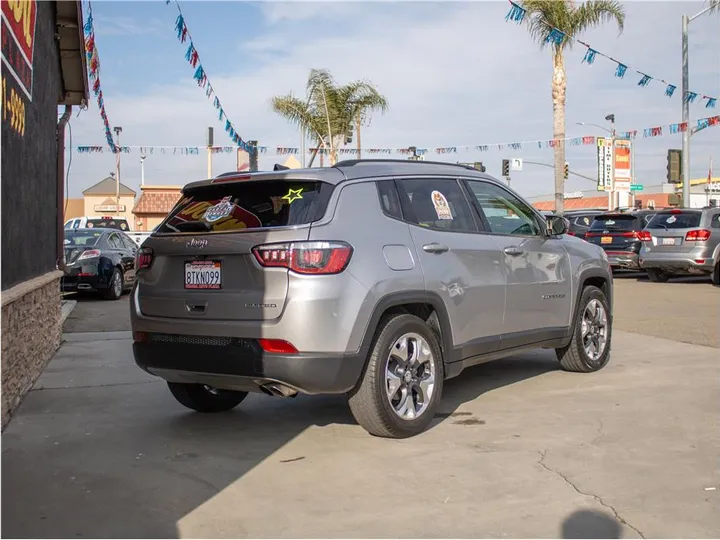
<path fill-rule="evenodd" d="M 407 178 L 398 186 L 406 221 L 441 231 L 477 231 L 470 204 L 454 178 Z"/>

